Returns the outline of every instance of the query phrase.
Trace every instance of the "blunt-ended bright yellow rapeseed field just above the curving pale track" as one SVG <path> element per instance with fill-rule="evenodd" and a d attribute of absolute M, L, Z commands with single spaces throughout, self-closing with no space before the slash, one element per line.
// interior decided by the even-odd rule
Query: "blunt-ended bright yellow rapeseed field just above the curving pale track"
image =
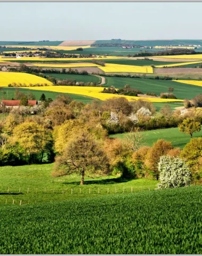
<path fill-rule="evenodd" d="M 130 66 L 130 65 L 119 65 L 119 64 L 110 64 L 105 63 L 105 67 L 99 67 L 106 73 L 153 73 L 152 67 L 144 67 L 144 66 Z"/>

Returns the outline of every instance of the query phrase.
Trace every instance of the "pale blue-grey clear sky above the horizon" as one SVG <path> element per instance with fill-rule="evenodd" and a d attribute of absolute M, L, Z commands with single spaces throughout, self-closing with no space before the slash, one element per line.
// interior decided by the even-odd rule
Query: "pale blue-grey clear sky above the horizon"
<path fill-rule="evenodd" d="M 202 39 L 202 3 L 0 2 L 0 41 Z"/>

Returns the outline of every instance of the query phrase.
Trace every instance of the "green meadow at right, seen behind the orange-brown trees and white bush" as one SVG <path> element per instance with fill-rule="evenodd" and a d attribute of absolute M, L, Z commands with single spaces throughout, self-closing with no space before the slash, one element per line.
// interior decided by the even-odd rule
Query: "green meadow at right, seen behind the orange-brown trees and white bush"
<path fill-rule="evenodd" d="M 120 133 L 111 135 L 111 138 L 124 138 L 127 133 Z M 190 135 L 179 132 L 178 127 L 169 129 L 159 129 L 142 132 L 145 146 L 152 146 L 158 139 L 164 139 L 171 141 L 174 147 L 180 147 L 181 149 L 190 141 Z M 202 130 L 200 132 L 193 133 L 193 138 L 201 137 Z"/>

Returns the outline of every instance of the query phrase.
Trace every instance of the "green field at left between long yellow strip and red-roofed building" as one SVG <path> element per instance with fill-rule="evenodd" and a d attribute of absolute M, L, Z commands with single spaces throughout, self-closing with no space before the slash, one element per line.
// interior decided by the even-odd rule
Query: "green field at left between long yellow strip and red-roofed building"
<path fill-rule="evenodd" d="M 1 94 L 0 99 L 2 97 L 4 97 L 5 100 L 11 100 L 12 98 L 14 98 L 14 94 L 15 94 L 15 88 L 11 88 L 11 87 L 3 87 L 4 91 L 6 92 L 6 94 Z M 28 94 L 29 92 L 33 93 L 36 97 L 37 100 L 40 99 L 41 94 L 43 93 L 43 91 L 38 91 L 38 90 L 29 90 L 29 89 L 19 89 L 19 91 Z M 46 98 L 52 98 L 55 99 L 57 97 L 58 92 L 47 92 L 45 91 L 44 94 L 46 95 Z M 65 93 L 67 95 L 69 95 L 69 97 L 71 97 L 73 100 L 78 100 L 78 101 L 82 101 L 83 103 L 90 103 L 92 102 L 93 98 L 87 97 L 87 96 L 82 96 L 82 95 L 78 95 L 78 94 L 72 94 L 72 93 Z"/>

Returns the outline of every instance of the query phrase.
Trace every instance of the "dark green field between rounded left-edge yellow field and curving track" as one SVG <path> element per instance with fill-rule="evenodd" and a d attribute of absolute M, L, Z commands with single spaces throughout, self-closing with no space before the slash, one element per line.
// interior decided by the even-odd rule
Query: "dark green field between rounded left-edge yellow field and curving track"
<path fill-rule="evenodd" d="M 76 80 L 77 82 L 95 82 L 99 83 L 100 79 L 97 76 L 92 75 L 72 75 L 72 74 L 47 74 L 48 76 L 53 76 L 58 79 L 69 79 L 69 80 Z"/>

